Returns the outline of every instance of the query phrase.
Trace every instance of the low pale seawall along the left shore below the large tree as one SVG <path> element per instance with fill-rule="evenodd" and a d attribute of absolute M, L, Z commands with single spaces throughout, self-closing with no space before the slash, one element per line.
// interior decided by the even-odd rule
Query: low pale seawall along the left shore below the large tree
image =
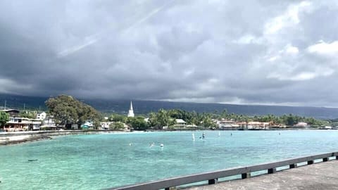
<path fill-rule="evenodd" d="M 8 144 L 18 144 L 27 141 L 37 141 L 40 139 L 51 139 L 53 136 L 69 134 L 97 134 L 97 133 L 115 133 L 122 131 L 110 130 L 63 130 L 63 131 L 36 131 L 36 132 L 3 132 L 0 133 L 0 146 Z"/>

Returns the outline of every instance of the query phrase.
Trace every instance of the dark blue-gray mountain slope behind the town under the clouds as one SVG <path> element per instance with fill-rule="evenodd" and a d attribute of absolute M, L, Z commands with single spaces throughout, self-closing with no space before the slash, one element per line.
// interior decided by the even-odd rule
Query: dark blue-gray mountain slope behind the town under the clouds
<path fill-rule="evenodd" d="M 7 108 L 23 110 L 24 104 L 27 109 L 46 110 L 44 102 L 48 97 L 19 96 L 11 94 L 0 94 L 0 106 L 4 107 L 6 100 Z M 80 101 L 93 106 L 103 113 L 123 113 L 127 114 L 130 100 L 104 100 L 104 99 L 80 99 Z M 186 111 L 196 111 L 197 113 L 218 113 L 227 110 L 228 113 L 243 115 L 283 115 L 292 113 L 305 117 L 318 119 L 338 118 L 338 108 L 325 107 L 298 107 L 298 106 L 259 106 L 259 105 L 234 105 L 223 103 L 182 103 L 170 101 L 142 101 L 132 100 L 135 115 L 147 114 L 151 111 L 163 109 L 181 109 Z"/>

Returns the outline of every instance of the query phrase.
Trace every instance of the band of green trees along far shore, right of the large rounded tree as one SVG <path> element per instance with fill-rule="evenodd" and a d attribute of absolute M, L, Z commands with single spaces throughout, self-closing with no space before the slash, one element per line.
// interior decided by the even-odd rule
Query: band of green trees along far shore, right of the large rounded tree
<path fill-rule="evenodd" d="M 305 118 L 297 115 L 237 115 L 234 113 L 227 113 L 223 110 L 221 113 L 214 111 L 213 113 L 196 113 L 187 112 L 185 110 L 160 109 L 158 112 L 151 112 L 148 114 L 149 120 L 146 122 L 144 117 L 138 116 L 136 118 L 127 118 L 126 115 L 113 114 L 109 120 L 114 122 L 125 122 L 135 130 L 144 129 L 163 129 L 163 127 L 173 128 L 175 126 L 175 119 L 182 119 L 187 122 L 187 125 L 197 126 L 200 128 L 215 128 L 215 120 L 225 119 L 234 122 L 270 122 L 272 125 L 287 125 L 294 126 L 299 122 L 306 122 L 311 127 L 321 127 L 330 125 L 330 122 L 325 120 L 315 120 L 314 118 Z"/>

